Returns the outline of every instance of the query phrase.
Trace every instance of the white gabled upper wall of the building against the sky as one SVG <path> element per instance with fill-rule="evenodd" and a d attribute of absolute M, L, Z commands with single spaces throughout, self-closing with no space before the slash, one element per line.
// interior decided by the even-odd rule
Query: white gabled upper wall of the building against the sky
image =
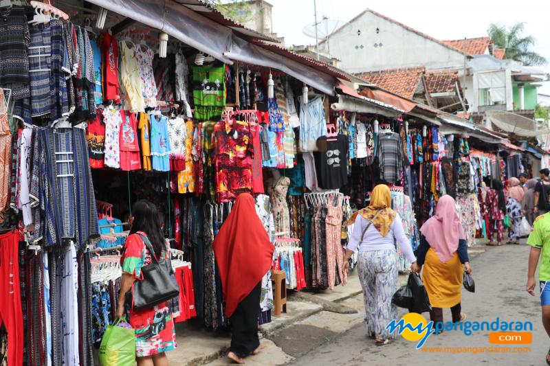
<path fill-rule="evenodd" d="M 340 67 L 351 73 L 415 66 L 458 69 L 464 64 L 461 52 L 369 11 L 333 33 L 320 48 L 327 54 L 330 50 L 331 57 L 342 61 Z"/>

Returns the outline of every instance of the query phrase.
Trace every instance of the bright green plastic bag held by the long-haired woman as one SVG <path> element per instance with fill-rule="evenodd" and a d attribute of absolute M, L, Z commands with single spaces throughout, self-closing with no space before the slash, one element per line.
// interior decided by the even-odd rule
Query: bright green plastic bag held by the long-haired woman
<path fill-rule="evenodd" d="M 118 326 L 118 321 L 107 325 L 99 348 L 101 366 L 134 366 L 135 365 L 135 330 Z"/>

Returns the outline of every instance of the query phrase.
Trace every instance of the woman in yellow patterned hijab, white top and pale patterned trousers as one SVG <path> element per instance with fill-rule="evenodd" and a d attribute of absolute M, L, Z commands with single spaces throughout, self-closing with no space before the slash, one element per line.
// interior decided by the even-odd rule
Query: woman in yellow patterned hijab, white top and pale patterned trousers
<path fill-rule="evenodd" d="M 405 236 L 401 218 L 391 209 L 391 192 L 387 185 L 377 185 L 371 204 L 355 212 L 346 222 L 355 222 L 344 255 L 344 271 L 349 270 L 349 258 L 359 247 L 358 271 L 365 304 L 367 334 L 377 345 L 385 345 L 394 334 L 386 325 L 397 319 L 397 308 L 391 298 L 397 290 L 397 252 L 394 238 L 408 262 L 415 263 L 410 240 Z"/>

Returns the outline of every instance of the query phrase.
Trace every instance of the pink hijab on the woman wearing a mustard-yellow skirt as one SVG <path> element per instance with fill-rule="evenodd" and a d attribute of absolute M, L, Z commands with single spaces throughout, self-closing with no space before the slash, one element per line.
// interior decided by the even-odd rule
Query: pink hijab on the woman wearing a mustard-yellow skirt
<path fill-rule="evenodd" d="M 459 240 L 466 238 L 459 215 L 456 214 L 454 198 L 448 194 L 441 196 L 435 216 L 424 222 L 420 232 L 441 262 L 450 260 L 456 249 L 459 249 Z"/>

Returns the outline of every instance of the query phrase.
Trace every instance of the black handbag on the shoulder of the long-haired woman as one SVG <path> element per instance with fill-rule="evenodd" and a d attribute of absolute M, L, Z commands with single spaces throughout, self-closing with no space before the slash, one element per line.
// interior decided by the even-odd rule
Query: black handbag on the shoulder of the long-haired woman
<path fill-rule="evenodd" d="M 131 308 L 142 310 L 173 299 L 179 295 L 179 286 L 170 258 L 157 260 L 149 239 L 139 233 L 138 235 L 151 253 L 152 262 L 142 267 L 143 279 L 133 283 L 133 288 L 126 293 L 126 302 L 131 304 Z"/>

